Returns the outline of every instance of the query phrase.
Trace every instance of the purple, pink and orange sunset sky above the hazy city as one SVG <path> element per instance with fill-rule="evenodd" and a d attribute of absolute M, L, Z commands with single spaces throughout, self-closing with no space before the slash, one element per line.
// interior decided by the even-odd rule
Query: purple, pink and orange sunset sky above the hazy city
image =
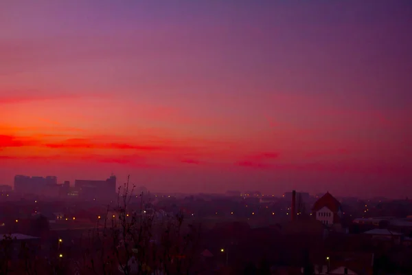
<path fill-rule="evenodd" d="M 0 184 L 412 192 L 412 3 L 1 1 Z"/>

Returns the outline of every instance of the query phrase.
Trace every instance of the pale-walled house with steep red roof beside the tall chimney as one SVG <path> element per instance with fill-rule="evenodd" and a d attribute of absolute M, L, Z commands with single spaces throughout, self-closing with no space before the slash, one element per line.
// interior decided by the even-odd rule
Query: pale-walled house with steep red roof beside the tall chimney
<path fill-rule="evenodd" d="M 341 203 L 327 192 L 314 203 L 312 215 L 325 225 L 341 225 Z"/>

